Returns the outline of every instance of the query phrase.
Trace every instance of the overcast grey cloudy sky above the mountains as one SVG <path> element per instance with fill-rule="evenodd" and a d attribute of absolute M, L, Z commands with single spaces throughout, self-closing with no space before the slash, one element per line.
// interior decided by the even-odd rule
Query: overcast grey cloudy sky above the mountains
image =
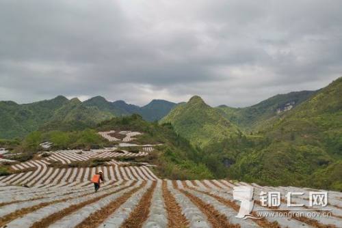
<path fill-rule="evenodd" d="M 1 0 L 0 100 L 248 106 L 342 76 L 342 1 Z"/>

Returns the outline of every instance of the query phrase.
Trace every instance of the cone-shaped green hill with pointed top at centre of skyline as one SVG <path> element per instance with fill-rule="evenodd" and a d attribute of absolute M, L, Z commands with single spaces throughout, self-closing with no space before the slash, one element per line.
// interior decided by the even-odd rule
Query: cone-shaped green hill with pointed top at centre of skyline
<path fill-rule="evenodd" d="M 199 147 L 241 136 L 234 124 L 224 118 L 218 109 L 205 104 L 199 96 L 176 106 L 161 119 L 161 123 L 172 124 L 176 132 Z"/>

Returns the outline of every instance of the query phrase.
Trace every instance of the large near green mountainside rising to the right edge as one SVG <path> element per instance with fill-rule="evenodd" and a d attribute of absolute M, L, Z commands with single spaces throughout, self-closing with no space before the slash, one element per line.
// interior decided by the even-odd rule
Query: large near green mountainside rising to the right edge
<path fill-rule="evenodd" d="M 264 145 L 239 154 L 230 169 L 233 177 L 342 190 L 342 78 L 260 134 Z"/>

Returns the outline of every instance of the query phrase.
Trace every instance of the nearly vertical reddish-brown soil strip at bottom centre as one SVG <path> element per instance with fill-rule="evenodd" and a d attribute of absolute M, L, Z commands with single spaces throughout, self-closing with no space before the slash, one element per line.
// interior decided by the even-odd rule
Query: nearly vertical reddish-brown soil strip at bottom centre
<path fill-rule="evenodd" d="M 174 196 L 170 193 L 166 187 L 166 181 L 163 181 L 161 186 L 163 190 L 164 203 L 166 205 L 166 212 L 168 212 L 168 227 L 169 228 L 183 228 L 189 227 L 189 221 L 182 214 L 181 207 L 174 199 Z"/>

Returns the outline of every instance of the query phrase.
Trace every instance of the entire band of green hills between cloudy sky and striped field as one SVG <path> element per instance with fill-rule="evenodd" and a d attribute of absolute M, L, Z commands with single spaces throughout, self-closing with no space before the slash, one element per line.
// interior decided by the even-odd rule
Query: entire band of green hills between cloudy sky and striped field
<path fill-rule="evenodd" d="M 213 108 L 199 96 L 174 105 L 62 96 L 32 104 L 0 102 L 1 137 L 26 136 L 1 140 L 0 147 L 34 154 L 39 143 L 51 141 L 55 149 L 90 149 L 115 145 L 98 131 L 132 130 L 144 133 L 135 143 L 162 144 L 146 158 L 160 177 L 342 190 L 342 78 L 319 91 L 277 95 L 244 109 Z M 149 120 L 171 111 L 159 123 L 129 115 L 142 110 Z"/>

